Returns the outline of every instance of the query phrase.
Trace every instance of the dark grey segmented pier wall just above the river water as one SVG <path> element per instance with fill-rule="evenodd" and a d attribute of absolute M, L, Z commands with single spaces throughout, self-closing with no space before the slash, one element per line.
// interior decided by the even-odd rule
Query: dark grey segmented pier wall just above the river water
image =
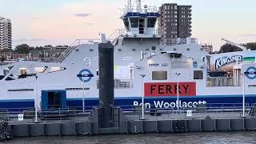
<path fill-rule="evenodd" d="M 190 133 L 256 130 L 256 118 L 205 118 L 186 120 L 134 120 L 122 122 L 108 134 Z M 10 125 L 14 137 L 106 134 L 98 122 L 20 123 Z"/>

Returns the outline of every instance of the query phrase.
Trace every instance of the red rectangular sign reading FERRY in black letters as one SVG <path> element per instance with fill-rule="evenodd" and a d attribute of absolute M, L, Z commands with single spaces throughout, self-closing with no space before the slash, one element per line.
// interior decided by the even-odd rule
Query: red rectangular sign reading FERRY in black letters
<path fill-rule="evenodd" d="M 146 97 L 177 96 L 177 91 L 180 96 L 195 96 L 196 82 L 144 83 L 144 94 Z"/>

